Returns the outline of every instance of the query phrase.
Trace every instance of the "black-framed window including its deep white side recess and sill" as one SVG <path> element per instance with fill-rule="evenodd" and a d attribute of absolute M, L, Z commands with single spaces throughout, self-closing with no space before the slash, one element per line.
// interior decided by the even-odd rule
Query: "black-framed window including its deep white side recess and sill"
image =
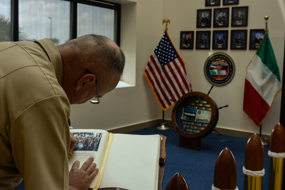
<path fill-rule="evenodd" d="M 120 2 L 122 15 L 120 4 L 100 0 L 0 0 L 0 42 L 50 38 L 59 45 L 88 33 L 101 34 L 122 45 L 127 57 L 117 87 L 135 86 L 136 3 Z"/>

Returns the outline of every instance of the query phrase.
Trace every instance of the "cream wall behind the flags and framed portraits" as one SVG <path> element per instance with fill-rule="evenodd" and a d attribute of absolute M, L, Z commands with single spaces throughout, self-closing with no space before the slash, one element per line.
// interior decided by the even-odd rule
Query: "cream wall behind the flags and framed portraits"
<path fill-rule="evenodd" d="M 117 2 L 120 0 L 116 0 Z M 207 93 L 211 84 L 204 76 L 203 67 L 209 55 L 219 50 L 180 50 L 180 31 L 201 30 L 239 30 L 247 29 L 249 42 L 250 29 L 265 27 L 264 16 L 268 15 L 269 38 L 272 43 L 280 75 L 283 74 L 285 1 L 284 0 L 239 0 L 239 5 L 249 6 L 247 27 L 196 28 L 197 9 L 205 7 L 204 0 L 133 0 L 122 3 L 121 46 L 127 55 L 127 65 L 135 69 L 135 87 L 116 88 L 100 99 L 99 105 L 84 103 L 72 105 L 71 122 L 74 128 L 100 128 L 110 130 L 154 119 L 162 119 L 162 109 L 144 77 L 144 69 L 152 51 L 163 35 L 164 18 L 170 20 L 168 33 L 180 56 L 186 64 L 188 81 L 193 91 Z M 127 4 L 126 4 L 127 3 Z M 220 7 L 231 7 L 223 6 Z M 229 47 L 229 46 L 228 46 Z M 222 87 L 214 87 L 209 96 L 218 107 L 229 105 L 219 110 L 218 127 L 259 133 L 259 128 L 243 113 L 243 88 L 245 68 L 255 54 L 255 50 L 222 50 L 235 62 L 233 80 Z M 134 65 L 135 64 L 135 65 Z M 134 68 L 135 66 L 135 68 Z M 127 80 L 130 80 L 128 77 Z M 100 88 L 100 87 L 99 87 Z M 262 124 L 262 134 L 271 134 L 272 128 L 279 121 L 281 93 L 277 95 L 272 108 Z M 165 112 L 165 119 L 171 120 L 172 108 Z"/>

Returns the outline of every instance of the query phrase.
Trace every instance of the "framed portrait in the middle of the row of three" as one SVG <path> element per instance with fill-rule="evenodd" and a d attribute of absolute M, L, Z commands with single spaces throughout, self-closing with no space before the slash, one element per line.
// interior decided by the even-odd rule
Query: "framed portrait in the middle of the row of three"
<path fill-rule="evenodd" d="M 213 27 L 228 27 L 229 26 L 229 7 L 214 9 Z"/>

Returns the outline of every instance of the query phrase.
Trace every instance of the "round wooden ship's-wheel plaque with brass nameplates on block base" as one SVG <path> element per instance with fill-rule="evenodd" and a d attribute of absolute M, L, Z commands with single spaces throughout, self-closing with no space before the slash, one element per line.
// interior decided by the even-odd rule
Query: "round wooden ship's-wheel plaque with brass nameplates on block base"
<path fill-rule="evenodd" d="M 184 109 L 197 111 L 196 113 L 187 113 L 186 111 L 186 114 L 184 115 Z M 196 121 L 196 118 L 194 118 L 195 120 L 193 120 L 193 118 L 187 120 L 188 115 L 197 115 L 202 111 L 211 111 L 211 116 L 210 119 L 208 118 L 208 122 L 199 122 Z M 218 118 L 219 111 L 217 104 L 208 95 L 201 92 L 190 92 L 183 95 L 176 102 L 172 110 L 172 124 L 176 132 L 179 134 L 179 147 L 200 150 L 201 138 L 204 138 L 214 130 L 218 122 Z M 198 124 L 196 125 L 196 123 Z M 205 124 L 207 125 L 205 126 Z M 182 130 L 182 128 L 185 128 L 186 130 Z"/>

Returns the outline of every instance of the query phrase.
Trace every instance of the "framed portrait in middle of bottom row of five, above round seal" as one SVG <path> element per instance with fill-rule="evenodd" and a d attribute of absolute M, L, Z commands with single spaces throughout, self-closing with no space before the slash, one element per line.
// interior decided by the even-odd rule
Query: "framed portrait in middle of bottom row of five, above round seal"
<path fill-rule="evenodd" d="M 227 50 L 228 49 L 228 30 L 213 30 L 213 50 Z"/>

